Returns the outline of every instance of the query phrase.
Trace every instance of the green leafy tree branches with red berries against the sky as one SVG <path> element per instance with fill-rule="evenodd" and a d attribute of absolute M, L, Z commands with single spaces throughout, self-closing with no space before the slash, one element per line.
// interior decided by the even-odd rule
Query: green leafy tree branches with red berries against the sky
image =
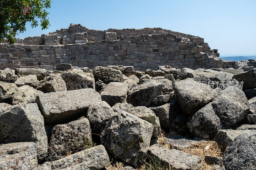
<path fill-rule="evenodd" d="M 0 0 L 0 41 L 15 43 L 14 37 L 26 31 L 27 22 L 32 28 L 39 23 L 42 30 L 47 29 L 50 23 L 46 10 L 50 7 L 51 0 Z"/>

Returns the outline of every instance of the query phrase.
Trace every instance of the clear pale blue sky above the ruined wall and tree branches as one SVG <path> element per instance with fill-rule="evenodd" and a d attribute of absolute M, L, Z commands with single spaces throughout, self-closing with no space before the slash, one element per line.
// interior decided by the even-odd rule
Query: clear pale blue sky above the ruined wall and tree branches
<path fill-rule="evenodd" d="M 204 38 L 220 55 L 256 55 L 256 0 L 52 0 L 51 26 L 17 37 L 39 36 L 70 23 L 90 29 L 161 27 Z"/>

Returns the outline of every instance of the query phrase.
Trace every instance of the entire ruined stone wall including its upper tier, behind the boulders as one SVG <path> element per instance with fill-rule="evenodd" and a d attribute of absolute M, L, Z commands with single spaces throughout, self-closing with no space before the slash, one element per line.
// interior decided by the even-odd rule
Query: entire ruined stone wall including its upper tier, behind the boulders
<path fill-rule="evenodd" d="M 58 63 L 78 67 L 124 65 L 136 70 L 156 70 L 159 65 L 181 68 L 237 68 L 223 61 L 218 49 L 211 49 L 198 36 L 162 28 L 93 30 L 70 24 L 41 36 L 0 44 L 0 69 L 44 68 Z"/>

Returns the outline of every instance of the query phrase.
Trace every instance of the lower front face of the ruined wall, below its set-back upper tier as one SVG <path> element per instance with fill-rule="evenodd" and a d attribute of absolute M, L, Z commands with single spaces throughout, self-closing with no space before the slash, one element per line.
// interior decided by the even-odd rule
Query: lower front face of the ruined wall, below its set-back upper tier
<path fill-rule="evenodd" d="M 0 68 L 52 68 L 58 63 L 94 68 L 98 65 L 131 65 L 136 70 L 156 70 L 159 65 L 174 68 L 221 68 L 214 50 L 183 42 L 171 34 L 140 35 L 116 41 L 95 41 L 66 45 L 0 44 Z M 204 52 L 207 51 L 207 52 Z M 9 54 L 9 55 L 6 55 Z"/>

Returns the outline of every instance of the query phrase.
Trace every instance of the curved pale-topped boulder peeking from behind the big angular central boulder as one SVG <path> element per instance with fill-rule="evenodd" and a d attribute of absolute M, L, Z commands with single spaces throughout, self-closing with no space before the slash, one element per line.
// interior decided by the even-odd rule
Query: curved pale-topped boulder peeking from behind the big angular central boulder
<path fill-rule="evenodd" d="M 137 106 L 132 107 L 126 112 L 151 123 L 154 126 L 152 137 L 157 137 L 160 134 L 161 128 L 159 118 L 156 117 L 156 114 L 150 108 L 145 106 Z"/>

